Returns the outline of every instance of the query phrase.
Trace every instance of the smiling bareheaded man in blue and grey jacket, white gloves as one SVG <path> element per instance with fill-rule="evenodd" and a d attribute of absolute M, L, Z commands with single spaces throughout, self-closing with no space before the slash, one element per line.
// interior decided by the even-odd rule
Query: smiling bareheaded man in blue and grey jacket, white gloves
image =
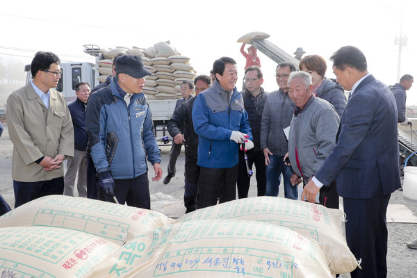
<path fill-rule="evenodd" d="M 193 106 L 193 124 L 199 136 L 198 208 L 213 206 L 218 199 L 220 203 L 236 199 L 238 144 L 254 147 L 243 97 L 236 89 L 235 60 L 215 60 L 213 74 L 213 87 L 201 92 Z"/>

